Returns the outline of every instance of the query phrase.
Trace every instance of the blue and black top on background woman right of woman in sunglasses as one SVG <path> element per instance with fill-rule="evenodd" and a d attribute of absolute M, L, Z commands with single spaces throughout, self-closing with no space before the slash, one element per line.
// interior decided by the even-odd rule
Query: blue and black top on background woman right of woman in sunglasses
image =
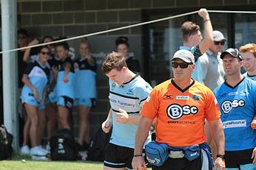
<path fill-rule="evenodd" d="M 74 62 L 70 57 L 67 57 L 65 60 L 61 60 L 59 65 L 59 71 L 57 76 L 57 85 L 56 85 L 56 96 L 68 96 L 71 99 L 75 98 L 74 91 L 74 82 L 75 82 L 75 73 L 74 73 Z M 65 65 L 71 65 L 70 72 L 67 74 L 68 82 L 64 82 L 64 67 Z"/>

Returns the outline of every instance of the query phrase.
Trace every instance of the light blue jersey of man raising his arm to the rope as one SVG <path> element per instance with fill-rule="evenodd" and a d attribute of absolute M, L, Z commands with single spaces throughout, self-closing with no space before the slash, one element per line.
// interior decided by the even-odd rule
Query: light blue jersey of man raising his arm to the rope
<path fill-rule="evenodd" d="M 199 57 L 201 57 L 201 51 L 199 49 L 199 46 L 193 46 L 190 48 L 189 46 L 180 46 L 180 49 L 186 49 L 189 50 L 189 52 L 192 52 L 192 54 L 195 57 L 195 70 L 192 71 L 191 77 L 198 82 L 203 82 L 203 68 L 201 66 L 201 61 L 198 60 Z"/>

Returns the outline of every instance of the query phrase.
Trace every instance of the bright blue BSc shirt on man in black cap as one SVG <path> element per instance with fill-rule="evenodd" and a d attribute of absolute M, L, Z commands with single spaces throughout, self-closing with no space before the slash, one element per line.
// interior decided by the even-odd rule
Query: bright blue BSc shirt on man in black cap
<path fill-rule="evenodd" d="M 225 133 L 225 150 L 239 151 L 256 146 L 251 123 L 256 113 L 256 82 L 243 78 L 235 87 L 226 82 L 214 91 Z"/>

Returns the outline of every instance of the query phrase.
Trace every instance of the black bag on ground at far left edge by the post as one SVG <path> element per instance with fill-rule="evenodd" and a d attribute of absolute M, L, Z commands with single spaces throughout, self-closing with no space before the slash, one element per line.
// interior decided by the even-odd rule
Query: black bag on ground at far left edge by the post
<path fill-rule="evenodd" d="M 12 156 L 13 153 L 13 135 L 7 132 L 4 124 L 0 126 L 0 160 L 6 160 Z"/>

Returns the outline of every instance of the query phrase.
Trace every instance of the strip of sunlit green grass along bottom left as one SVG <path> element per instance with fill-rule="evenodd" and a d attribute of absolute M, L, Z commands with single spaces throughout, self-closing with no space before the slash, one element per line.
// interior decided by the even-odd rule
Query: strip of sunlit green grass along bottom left
<path fill-rule="evenodd" d="M 1 160 L 1 170 L 98 170 L 103 163 L 92 161 L 36 161 L 30 157 L 13 156 L 12 160 Z"/>

